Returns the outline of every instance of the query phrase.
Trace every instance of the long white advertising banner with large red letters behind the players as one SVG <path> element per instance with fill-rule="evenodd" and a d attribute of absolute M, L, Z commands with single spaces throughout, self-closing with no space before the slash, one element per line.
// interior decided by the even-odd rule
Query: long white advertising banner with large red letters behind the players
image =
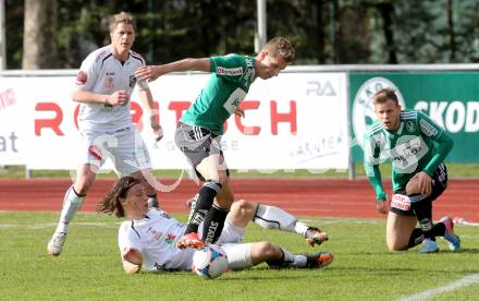
<path fill-rule="evenodd" d="M 150 83 L 164 137 L 153 142 L 136 94 L 132 116 L 155 169 L 187 168 L 174 145 L 175 125 L 208 74 L 171 74 Z M 0 165 L 75 169 L 81 145 L 71 100 L 74 76 L 1 77 Z M 347 169 L 345 73 L 281 73 L 258 79 L 243 101 L 244 118 L 231 117 L 222 139 L 228 166 L 241 170 Z M 108 165 L 107 168 L 111 166 Z"/>

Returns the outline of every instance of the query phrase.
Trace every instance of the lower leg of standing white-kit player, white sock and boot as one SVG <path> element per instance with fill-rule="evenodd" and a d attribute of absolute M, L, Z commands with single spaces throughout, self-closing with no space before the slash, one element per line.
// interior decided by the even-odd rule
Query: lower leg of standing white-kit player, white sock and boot
<path fill-rule="evenodd" d="M 85 195 L 78 194 L 73 185 L 66 191 L 57 230 L 47 245 L 48 254 L 58 256 L 62 253 L 66 233 L 69 232 L 70 221 L 73 219 L 75 213 L 82 207 L 84 198 Z"/>

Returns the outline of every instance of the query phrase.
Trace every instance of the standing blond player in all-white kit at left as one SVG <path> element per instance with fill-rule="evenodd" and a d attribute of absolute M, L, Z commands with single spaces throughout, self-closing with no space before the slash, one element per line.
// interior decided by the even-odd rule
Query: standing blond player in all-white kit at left
<path fill-rule="evenodd" d="M 151 182 L 150 157 L 135 124 L 132 122 L 130 97 L 137 85 L 138 95 L 150 111 L 156 139 L 162 137 L 158 112 L 145 81 L 137 82 L 135 71 L 145 65 L 133 52 L 135 23 L 128 13 L 110 19 L 111 44 L 91 52 L 82 63 L 76 76 L 74 101 L 81 103 L 78 125 L 83 137 L 83 157 L 76 180 L 66 191 L 58 227 L 48 243 L 51 255 L 60 255 L 69 232 L 69 224 L 81 208 L 83 200 L 96 179 L 96 172 L 111 158 L 119 177 L 133 176 Z M 145 181 L 151 206 L 158 206 L 156 190 Z"/>

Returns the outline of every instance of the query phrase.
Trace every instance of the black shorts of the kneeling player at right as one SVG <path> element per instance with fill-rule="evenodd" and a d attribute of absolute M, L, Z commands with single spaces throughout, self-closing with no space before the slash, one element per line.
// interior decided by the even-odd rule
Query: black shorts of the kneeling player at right
<path fill-rule="evenodd" d="M 415 200 L 414 202 L 423 202 L 423 201 L 432 202 L 435 198 L 438 198 L 447 186 L 447 169 L 446 169 L 445 165 L 441 164 L 440 166 L 438 166 L 438 168 L 435 169 L 435 171 L 431 178 L 432 178 L 431 195 L 427 196 L 427 195 L 419 194 L 419 195 L 409 196 L 408 198 Z M 401 189 L 394 191 L 394 194 L 407 196 L 406 188 L 401 188 Z M 393 198 L 394 198 L 394 196 L 393 196 Z M 395 213 L 397 215 L 404 215 L 404 216 L 414 216 L 415 215 L 413 212 L 413 208 L 410 208 L 410 206 L 408 209 L 404 209 L 404 208 L 398 208 L 401 206 L 393 206 L 393 203 L 394 203 L 394 200 L 391 200 L 390 212 Z"/>

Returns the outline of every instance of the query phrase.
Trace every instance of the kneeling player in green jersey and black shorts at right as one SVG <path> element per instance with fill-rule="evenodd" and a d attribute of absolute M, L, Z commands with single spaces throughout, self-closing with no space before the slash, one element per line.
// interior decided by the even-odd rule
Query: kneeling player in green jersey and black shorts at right
<path fill-rule="evenodd" d="M 420 111 L 401 111 L 395 92 L 379 91 L 373 96 L 378 121 L 365 137 L 365 169 L 376 192 L 377 208 L 388 212 L 388 196 L 381 184 L 379 164 L 391 159 L 393 196 L 386 224 L 391 251 L 419 243 L 419 253 L 439 250 L 435 237 L 444 237 L 453 251 L 460 248 L 450 217 L 432 222 L 432 201 L 447 185 L 444 158 L 453 147 L 447 133 Z M 419 221 L 419 228 L 415 228 Z"/>

